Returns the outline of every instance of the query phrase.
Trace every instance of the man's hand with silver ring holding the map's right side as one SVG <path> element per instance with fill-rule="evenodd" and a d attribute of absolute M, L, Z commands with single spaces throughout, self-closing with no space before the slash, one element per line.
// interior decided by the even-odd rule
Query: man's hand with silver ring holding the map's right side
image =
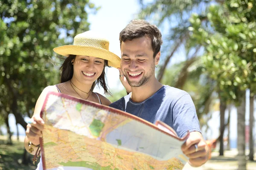
<path fill-rule="evenodd" d="M 208 160 L 209 148 L 200 132 L 189 133 L 181 150 L 189 157 L 189 164 L 192 167 L 200 167 Z"/>

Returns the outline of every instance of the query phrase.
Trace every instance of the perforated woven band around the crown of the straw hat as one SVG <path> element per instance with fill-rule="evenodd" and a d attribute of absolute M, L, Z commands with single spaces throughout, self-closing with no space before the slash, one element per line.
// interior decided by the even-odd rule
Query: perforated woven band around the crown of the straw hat
<path fill-rule="evenodd" d="M 75 38 L 74 45 L 92 46 L 108 50 L 109 42 L 106 40 L 96 40 L 92 38 Z"/>

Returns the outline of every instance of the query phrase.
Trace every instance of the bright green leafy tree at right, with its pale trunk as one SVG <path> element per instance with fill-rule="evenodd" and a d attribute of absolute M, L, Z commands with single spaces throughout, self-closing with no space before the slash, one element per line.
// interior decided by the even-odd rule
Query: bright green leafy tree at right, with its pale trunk
<path fill-rule="evenodd" d="M 190 19 L 191 38 L 206 49 L 203 60 L 216 80 L 219 94 L 238 107 L 239 170 L 246 169 L 244 156 L 245 90 L 256 91 L 256 6 L 253 0 L 224 1 L 209 7 L 207 20 Z"/>

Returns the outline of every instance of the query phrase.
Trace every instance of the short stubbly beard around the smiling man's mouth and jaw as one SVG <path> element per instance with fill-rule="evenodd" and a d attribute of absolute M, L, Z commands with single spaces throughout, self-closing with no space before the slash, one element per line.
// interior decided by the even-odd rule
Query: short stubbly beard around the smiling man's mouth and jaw
<path fill-rule="evenodd" d="M 131 81 L 131 80 L 129 79 L 129 76 L 128 76 L 128 74 L 127 74 L 127 71 L 124 71 L 124 72 L 125 72 L 124 76 L 126 77 L 128 83 L 129 83 L 129 85 L 130 85 L 131 87 L 140 87 L 140 86 L 145 85 L 145 84 L 148 82 L 148 80 L 154 75 L 154 64 L 151 65 L 151 68 L 150 68 L 148 74 L 144 75 L 144 76 L 140 79 L 139 82 L 137 82 L 137 81 Z M 136 72 L 139 72 L 139 71 L 136 71 Z"/>

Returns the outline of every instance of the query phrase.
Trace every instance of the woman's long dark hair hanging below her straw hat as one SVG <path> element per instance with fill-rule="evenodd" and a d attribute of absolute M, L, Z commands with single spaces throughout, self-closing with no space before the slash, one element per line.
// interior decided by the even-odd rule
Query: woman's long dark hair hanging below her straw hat
<path fill-rule="evenodd" d="M 73 73 L 74 73 L 74 70 L 73 70 L 73 64 L 71 63 L 72 60 L 75 60 L 76 59 L 76 55 L 69 55 L 69 57 L 67 57 L 63 64 L 61 65 L 61 80 L 60 82 L 67 82 L 69 81 L 70 79 L 72 79 L 73 77 Z M 98 79 L 96 79 L 95 82 L 93 82 L 93 85 L 91 87 L 91 91 L 93 91 L 93 89 L 95 88 L 96 85 L 100 85 L 103 89 L 104 89 L 104 93 L 105 94 L 111 94 L 110 91 L 108 90 L 108 85 L 106 83 L 106 74 L 105 74 L 105 66 L 108 66 L 108 60 L 104 60 L 104 68 L 103 68 L 103 71 L 102 71 L 102 74 L 99 76 Z"/>

